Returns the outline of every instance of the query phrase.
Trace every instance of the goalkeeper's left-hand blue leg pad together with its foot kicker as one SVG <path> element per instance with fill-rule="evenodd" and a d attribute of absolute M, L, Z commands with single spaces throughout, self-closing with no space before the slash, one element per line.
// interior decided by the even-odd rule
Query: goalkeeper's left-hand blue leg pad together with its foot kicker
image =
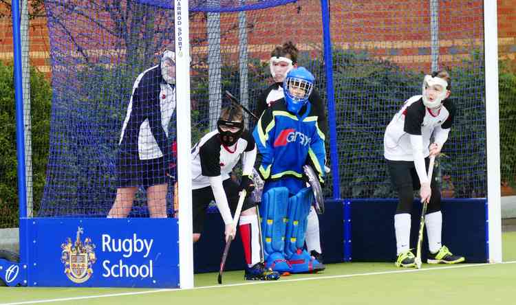
<path fill-rule="evenodd" d="M 287 208 L 288 188 L 271 188 L 261 198 L 261 234 L 266 267 L 279 273 L 292 271 L 283 254 Z"/>

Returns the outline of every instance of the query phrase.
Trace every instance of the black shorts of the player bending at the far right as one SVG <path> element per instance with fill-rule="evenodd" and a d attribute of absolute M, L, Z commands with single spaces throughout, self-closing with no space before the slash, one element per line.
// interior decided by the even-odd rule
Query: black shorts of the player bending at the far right
<path fill-rule="evenodd" d="M 428 157 L 424 158 L 424 167 L 426 168 L 427 172 L 429 162 L 430 159 Z M 389 176 L 391 177 L 392 186 L 398 192 L 401 188 L 412 188 L 412 190 L 419 190 L 421 188 L 414 161 L 387 160 L 387 167 L 389 168 Z M 437 183 L 437 179 L 434 179 L 435 177 L 436 172 L 434 171 L 430 183 L 431 188 L 440 188 L 440 185 Z"/>

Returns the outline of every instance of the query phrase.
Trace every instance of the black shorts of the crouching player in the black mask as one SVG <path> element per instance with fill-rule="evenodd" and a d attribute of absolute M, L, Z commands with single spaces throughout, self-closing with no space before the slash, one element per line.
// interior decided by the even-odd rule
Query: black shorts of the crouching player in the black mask
<path fill-rule="evenodd" d="M 235 215 L 239 199 L 239 185 L 231 178 L 228 178 L 222 182 L 222 186 L 224 187 L 224 192 L 226 192 L 226 196 L 228 198 L 231 214 Z M 193 233 L 200 234 L 202 232 L 206 210 L 208 210 L 208 206 L 213 200 L 215 200 L 215 197 L 213 196 L 211 186 L 192 190 Z M 244 204 L 242 205 L 242 211 L 248 210 L 255 205 L 256 203 L 250 199 L 248 194 Z"/>

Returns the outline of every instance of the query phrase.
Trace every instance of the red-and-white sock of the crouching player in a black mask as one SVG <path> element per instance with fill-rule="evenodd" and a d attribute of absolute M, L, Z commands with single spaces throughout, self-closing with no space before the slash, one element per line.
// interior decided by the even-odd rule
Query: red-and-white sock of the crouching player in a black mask
<path fill-rule="evenodd" d="M 259 230 L 258 216 L 240 216 L 239 221 L 240 237 L 244 246 L 244 256 L 248 267 L 261 262 L 261 236 Z"/>

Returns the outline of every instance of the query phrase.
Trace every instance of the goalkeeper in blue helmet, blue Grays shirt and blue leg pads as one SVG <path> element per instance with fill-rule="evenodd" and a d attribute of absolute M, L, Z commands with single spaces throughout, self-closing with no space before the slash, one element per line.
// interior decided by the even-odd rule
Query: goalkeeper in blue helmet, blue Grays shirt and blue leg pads
<path fill-rule="evenodd" d="M 305 188 L 303 166 L 310 163 L 323 182 L 325 163 L 324 134 L 308 101 L 313 87 L 310 71 L 289 71 L 284 98 L 266 109 L 252 134 L 258 147 L 255 167 L 265 181 L 260 214 L 266 266 L 280 273 L 324 269 L 303 249 L 314 199 L 312 189 Z"/>

